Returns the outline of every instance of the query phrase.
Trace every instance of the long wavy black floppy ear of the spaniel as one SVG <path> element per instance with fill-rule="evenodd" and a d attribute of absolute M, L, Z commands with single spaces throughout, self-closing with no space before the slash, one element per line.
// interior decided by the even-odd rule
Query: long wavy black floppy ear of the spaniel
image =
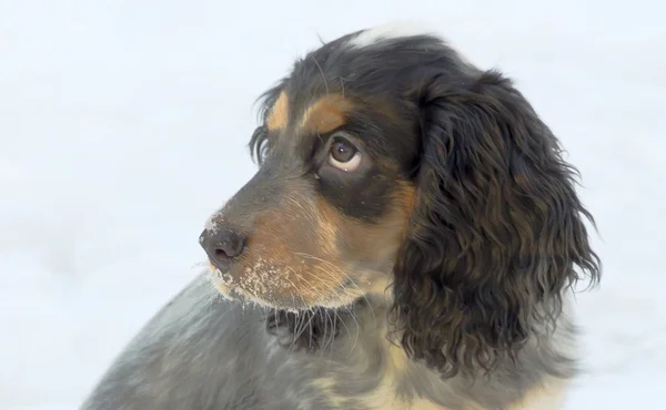
<path fill-rule="evenodd" d="M 422 153 L 393 314 L 414 359 L 453 376 L 491 370 L 552 324 L 562 290 L 599 262 L 576 170 L 512 83 L 437 78 L 420 91 Z"/>

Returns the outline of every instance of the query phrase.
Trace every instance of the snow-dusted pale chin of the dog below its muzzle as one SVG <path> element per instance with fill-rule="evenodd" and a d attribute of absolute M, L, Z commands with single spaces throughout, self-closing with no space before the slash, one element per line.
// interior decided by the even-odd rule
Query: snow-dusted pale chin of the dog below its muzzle
<path fill-rule="evenodd" d="M 335 293 L 323 295 L 317 300 L 310 303 L 291 294 L 281 296 L 279 291 L 273 291 L 270 287 L 266 287 L 262 295 L 256 295 L 255 293 L 236 285 L 229 273 L 223 273 L 218 268 L 211 268 L 210 281 L 218 293 L 228 300 L 292 312 L 309 311 L 317 308 L 347 308 L 360 298 L 363 298 L 363 295 L 353 291 L 354 289 L 351 287 L 347 289 L 337 289 Z"/>

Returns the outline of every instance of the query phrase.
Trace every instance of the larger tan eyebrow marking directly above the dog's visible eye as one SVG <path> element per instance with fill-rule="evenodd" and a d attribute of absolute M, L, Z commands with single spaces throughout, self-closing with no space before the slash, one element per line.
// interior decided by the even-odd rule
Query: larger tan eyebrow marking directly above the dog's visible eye
<path fill-rule="evenodd" d="M 301 127 L 312 133 L 325 134 L 344 125 L 353 107 L 352 101 L 341 94 L 324 96 L 305 110 Z"/>

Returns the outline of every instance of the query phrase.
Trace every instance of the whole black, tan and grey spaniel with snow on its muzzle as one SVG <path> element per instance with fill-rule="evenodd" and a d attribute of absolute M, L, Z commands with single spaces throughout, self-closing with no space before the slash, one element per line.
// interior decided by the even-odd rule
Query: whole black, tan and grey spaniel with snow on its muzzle
<path fill-rule="evenodd" d="M 601 262 L 577 171 L 511 80 L 380 27 L 263 95 L 210 266 L 85 410 L 558 409 Z"/>

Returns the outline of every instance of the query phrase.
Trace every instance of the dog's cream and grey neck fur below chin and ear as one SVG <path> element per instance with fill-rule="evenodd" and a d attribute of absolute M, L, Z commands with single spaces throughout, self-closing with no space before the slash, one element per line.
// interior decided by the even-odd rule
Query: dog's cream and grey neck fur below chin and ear
<path fill-rule="evenodd" d="M 390 410 L 394 408 L 390 403 L 400 400 L 403 408 L 418 402 L 434 409 L 513 409 L 521 408 L 516 403 L 535 389 L 575 375 L 571 345 L 575 329 L 566 307 L 555 330 L 535 332 L 515 361 L 501 359 L 490 373 L 462 372 L 451 378 L 407 357 L 400 337 L 392 337 L 398 335 L 390 332 L 389 305 L 380 297 L 335 310 L 270 311 L 266 328 L 290 357 L 325 361 L 317 367 L 321 373 L 312 375 L 313 385 L 337 394 L 351 408 L 354 402 L 359 408 L 375 402 Z M 534 328 L 539 329 L 538 324 Z M 385 401 L 390 399 L 394 401 Z"/>

